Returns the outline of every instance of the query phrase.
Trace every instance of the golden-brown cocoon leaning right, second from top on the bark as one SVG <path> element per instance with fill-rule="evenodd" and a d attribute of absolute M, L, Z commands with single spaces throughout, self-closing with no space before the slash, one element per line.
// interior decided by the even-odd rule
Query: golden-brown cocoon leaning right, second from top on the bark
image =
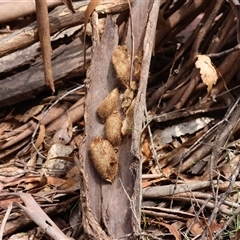
<path fill-rule="evenodd" d="M 97 108 L 97 114 L 101 122 L 105 122 L 107 117 L 117 108 L 119 101 L 119 91 L 113 89 Z"/>

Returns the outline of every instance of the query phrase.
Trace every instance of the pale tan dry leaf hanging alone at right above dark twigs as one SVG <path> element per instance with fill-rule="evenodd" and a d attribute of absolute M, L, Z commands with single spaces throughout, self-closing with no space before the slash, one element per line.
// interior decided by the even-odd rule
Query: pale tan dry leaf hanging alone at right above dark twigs
<path fill-rule="evenodd" d="M 209 93 L 213 85 L 217 82 L 217 71 L 208 56 L 198 55 L 197 58 L 198 60 L 195 62 L 195 66 L 200 69 L 202 81 L 207 85 L 207 91 Z"/>

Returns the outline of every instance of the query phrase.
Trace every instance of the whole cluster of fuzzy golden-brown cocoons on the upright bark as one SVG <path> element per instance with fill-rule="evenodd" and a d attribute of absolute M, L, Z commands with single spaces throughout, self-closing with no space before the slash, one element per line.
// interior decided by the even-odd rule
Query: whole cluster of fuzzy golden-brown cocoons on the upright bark
<path fill-rule="evenodd" d="M 134 76 L 140 78 L 142 54 L 134 59 Z M 97 108 L 97 115 L 104 125 L 106 139 L 96 137 L 90 145 L 90 157 L 99 175 L 106 181 L 113 182 L 118 172 L 118 159 L 114 147 L 120 146 L 122 134 L 131 134 L 134 114 L 134 92 L 130 86 L 131 58 L 127 46 L 118 46 L 112 56 L 113 67 L 117 79 L 124 93 L 123 110 L 126 111 L 126 118 L 121 121 L 121 115 L 117 109 L 120 99 L 118 88 L 113 89 Z M 135 83 L 136 84 L 136 83 Z M 133 87 L 135 89 L 135 87 Z"/>

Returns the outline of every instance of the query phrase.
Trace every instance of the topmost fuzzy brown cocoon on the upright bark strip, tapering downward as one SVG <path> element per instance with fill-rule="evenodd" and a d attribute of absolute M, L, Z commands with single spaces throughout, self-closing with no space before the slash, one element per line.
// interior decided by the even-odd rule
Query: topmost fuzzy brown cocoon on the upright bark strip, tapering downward
<path fill-rule="evenodd" d="M 113 67 L 117 74 L 117 79 L 123 87 L 128 88 L 130 79 L 131 59 L 127 46 L 118 46 L 112 55 Z"/>

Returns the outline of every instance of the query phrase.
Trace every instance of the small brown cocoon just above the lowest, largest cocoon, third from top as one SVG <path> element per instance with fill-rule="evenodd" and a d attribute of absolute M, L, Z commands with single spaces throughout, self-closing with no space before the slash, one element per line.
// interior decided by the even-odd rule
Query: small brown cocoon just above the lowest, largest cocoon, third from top
<path fill-rule="evenodd" d="M 119 147 L 122 141 L 121 128 L 122 121 L 118 111 L 114 111 L 106 120 L 105 136 L 107 140 L 114 146 Z"/>

